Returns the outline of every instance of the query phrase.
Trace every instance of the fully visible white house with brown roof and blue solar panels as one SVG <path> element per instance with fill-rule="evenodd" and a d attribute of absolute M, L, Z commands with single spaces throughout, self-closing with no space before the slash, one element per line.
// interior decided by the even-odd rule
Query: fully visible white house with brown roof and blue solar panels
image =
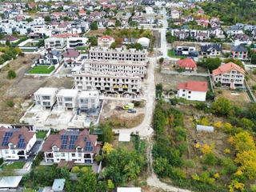
<path fill-rule="evenodd" d="M 44 159 L 54 163 L 93 163 L 101 147 L 97 138 L 88 130 L 61 130 L 59 134 L 50 134 L 42 146 Z"/>

